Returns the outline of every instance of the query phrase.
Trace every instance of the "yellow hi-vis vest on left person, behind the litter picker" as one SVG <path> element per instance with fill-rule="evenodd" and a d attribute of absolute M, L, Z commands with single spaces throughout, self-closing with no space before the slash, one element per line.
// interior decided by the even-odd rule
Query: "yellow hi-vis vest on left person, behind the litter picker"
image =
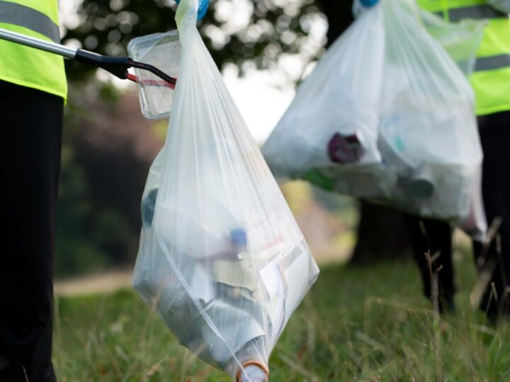
<path fill-rule="evenodd" d="M 0 28 L 60 43 L 58 25 L 57 0 L 0 0 Z M 62 57 L 1 39 L 0 80 L 67 97 Z"/>

